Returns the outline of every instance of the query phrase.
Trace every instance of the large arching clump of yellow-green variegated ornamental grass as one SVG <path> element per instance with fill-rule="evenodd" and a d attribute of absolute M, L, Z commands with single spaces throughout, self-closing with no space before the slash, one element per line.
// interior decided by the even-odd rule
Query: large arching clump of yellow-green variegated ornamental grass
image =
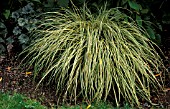
<path fill-rule="evenodd" d="M 34 42 L 24 50 L 34 79 L 55 83 L 63 101 L 89 101 L 111 96 L 140 105 L 150 101 L 150 89 L 161 88 L 153 74 L 161 59 L 147 33 L 117 8 L 92 14 L 86 7 L 43 14 L 33 32 Z"/>

